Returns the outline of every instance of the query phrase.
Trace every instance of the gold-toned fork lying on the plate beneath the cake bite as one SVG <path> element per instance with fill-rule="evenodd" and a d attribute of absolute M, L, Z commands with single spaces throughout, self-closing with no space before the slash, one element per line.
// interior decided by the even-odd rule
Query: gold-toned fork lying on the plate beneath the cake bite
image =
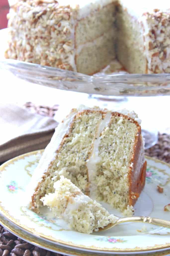
<path fill-rule="evenodd" d="M 108 230 L 108 229 L 114 227 L 115 225 L 117 225 L 119 223 L 123 223 L 123 222 L 143 222 L 143 223 L 150 223 L 153 225 L 170 228 L 170 221 L 162 220 L 162 219 L 158 219 L 158 218 L 152 218 L 149 216 L 146 216 L 146 217 L 145 216 L 133 216 L 133 217 L 123 217 L 123 218 L 120 218 L 118 216 L 116 216 L 116 217 L 118 218 L 118 220 L 115 223 L 110 223 L 110 224 L 108 224 L 108 226 L 106 226 L 104 228 L 99 228 L 98 232 Z"/>

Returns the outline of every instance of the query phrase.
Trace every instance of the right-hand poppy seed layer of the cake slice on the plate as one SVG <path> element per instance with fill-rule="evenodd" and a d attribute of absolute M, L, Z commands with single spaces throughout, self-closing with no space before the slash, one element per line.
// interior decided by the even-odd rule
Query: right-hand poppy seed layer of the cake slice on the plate
<path fill-rule="evenodd" d="M 129 197 L 132 191 L 129 176 L 133 170 L 132 158 L 138 137 L 142 140 L 139 124 L 116 112 L 112 113 L 108 126 L 100 135 L 99 157 L 101 160 L 97 163 L 96 177 L 91 184 L 96 188 L 98 200 L 106 201 L 122 212 L 130 204 Z M 139 163 L 143 162 L 142 148 Z M 140 167 L 135 170 L 137 177 L 139 172 Z M 132 182 L 136 183 L 136 180 Z"/>

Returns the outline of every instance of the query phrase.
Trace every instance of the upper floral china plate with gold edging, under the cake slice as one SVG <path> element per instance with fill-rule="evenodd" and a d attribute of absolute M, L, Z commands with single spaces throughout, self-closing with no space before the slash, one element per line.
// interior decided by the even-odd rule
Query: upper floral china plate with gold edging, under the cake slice
<path fill-rule="evenodd" d="M 53 245 L 93 253 L 132 254 L 170 249 L 168 228 L 135 222 L 84 234 L 69 230 L 67 224 L 55 219 L 48 208 L 43 207 L 39 215 L 29 210 L 25 206 L 24 192 L 42 153 L 30 152 L 0 166 L 0 213 L 17 229 Z M 164 210 L 170 203 L 170 165 L 149 157 L 146 160 L 146 185 L 135 204 L 135 215 L 170 220 L 170 211 Z M 163 188 L 163 193 L 157 190 L 158 185 Z M 109 212 L 120 216 L 107 204 L 103 205 Z"/>

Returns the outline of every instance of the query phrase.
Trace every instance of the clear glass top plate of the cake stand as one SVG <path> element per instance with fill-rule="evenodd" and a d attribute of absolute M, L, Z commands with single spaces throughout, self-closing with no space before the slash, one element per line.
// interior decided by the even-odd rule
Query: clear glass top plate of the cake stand
<path fill-rule="evenodd" d="M 6 59 L 9 28 L 0 30 L 2 47 L 0 68 L 17 78 L 60 90 L 77 91 L 107 96 L 160 96 L 170 95 L 170 73 L 129 74 L 97 73 L 92 76 L 75 71 L 40 64 Z"/>

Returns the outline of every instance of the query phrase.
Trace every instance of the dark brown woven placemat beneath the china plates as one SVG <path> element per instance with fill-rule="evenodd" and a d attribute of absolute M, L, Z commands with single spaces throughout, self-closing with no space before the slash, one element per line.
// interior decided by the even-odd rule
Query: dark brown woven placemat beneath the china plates
<path fill-rule="evenodd" d="M 30 111 L 53 117 L 59 108 L 59 105 L 52 107 L 39 105 L 36 106 L 31 102 L 24 104 Z M 145 150 L 147 156 L 158 158 L 166 163 L 170 163 L 170 136 L 160 134 L 158 143 L 153 147 Z M 33 246 L 20 238 L 15 237 L 0 225 L 0 256 L 60 256 L 61 254 L 49 252 L 39 247 Z"/>

